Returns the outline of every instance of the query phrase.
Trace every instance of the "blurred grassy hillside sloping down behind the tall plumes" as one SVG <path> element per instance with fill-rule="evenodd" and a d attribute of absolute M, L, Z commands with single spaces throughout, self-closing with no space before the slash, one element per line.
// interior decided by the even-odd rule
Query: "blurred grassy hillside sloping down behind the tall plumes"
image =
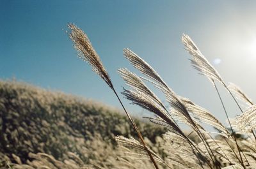
<path fill-rule="evenodd" d="M 67 161 L 70 156 L 74 163 L 76 156 L 85 165 L 119 168 L 114 165 L 118 164 L 121 152 L 116 147 L 115 136 L 136 138 L 129 121 L 118 110 L 20 82 L 0 81 L 0 117 L 2 167 L 6 165 L 5 160 L 39 168 L 40 163 L 33 165 L 31 161 L 40 161 L 49 154 L 55 163 L 58 160 L 70 164 Z M 164 133 L 163 128 L 136 122 L 149 143 L 156 142 L 156 137 Z M 45 155 L 38 154 L 41 152 Z"/>

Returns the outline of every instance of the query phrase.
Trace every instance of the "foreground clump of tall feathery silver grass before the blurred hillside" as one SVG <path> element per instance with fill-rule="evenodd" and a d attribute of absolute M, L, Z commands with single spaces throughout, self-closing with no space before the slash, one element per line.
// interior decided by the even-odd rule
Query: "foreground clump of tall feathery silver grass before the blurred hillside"
<path fill-rule="evenodd" d="M 74 43 L 81 59 L 88 62 L 93 71 L 97 73 L 108 84 L 114 92 L 116 98 L 124 108 L 131 126 L 138 133 L 140 140 L 134 138 L 125 138 L 116 136 L 116 141 L 125 147 L 138 149 L 140 153 L 128 153 L 135 159 L 150 160 L 152 167 L 159 168 L 255 168 L 256 147 L 255 147 L 255 110 L 256 106 L 236 85 L 227 85 L 221 78 L 218 71 L 207 61 L 206 57 L 196 47 L 195 43 L 188 35 L 182 35 L 182 43 L 191 55 L 191 64 L 195 70 L 199 71 L 209 79 L 216 89 L 223 114 L 227 117 L 228 128 L 223 125 L 214 115 L 205 108 L 196 105 L 193 101 L 179 96 L 171 87 L 169 87 L 160 77 L 160 75 L 141 57 L 129 50 L 124 49 L 124 57 L 143 75 L 142 77 L 132 73 L 126 68 L 118 70 L 120 76 L 124 79 L 129 89 L 124 89 L 122 94 L 129 99 L 132 104 L 145 108 L 155 116 L 148 117 L 151 122 L 166 126 L 169 131 L 164 134 L 163 149 L 168 155 L 167 158 L 161 158 L 156 152 L 151 150 L 143 139 L 143 133 L 136 126 L 125 106 L 115 91 L 108 72 L 100 61 L 99 55 L 95 52 L 86 34 L 74 24 L 68 24 L 68 34 Z M 230 121 L 228 112 L 225 108 L 224 101 L 216 86 L 220 83 L 231 94 L 237 106 L 241 110 L 241 115 Z M 170 105 L 167 108 L 161 99 L 147 86 L 147 83 L 163 92 L 166 101 Z M 242 110 L 238 98 L 241 98 L 249 107 Z M 184 133 L 180 123 L 186 124 L 192 129 L 193 133 L 200 140 L 194 142 Z M 202 123 L 214 126 L 217 133 L 211 133 L 204 128 Z M 237 138 L 237 133 L 243 135 L 243 139 Z M 217 135 L 217 136 L 216 136 Z M 143 153 L 144 152 L 144 153 Z"/>

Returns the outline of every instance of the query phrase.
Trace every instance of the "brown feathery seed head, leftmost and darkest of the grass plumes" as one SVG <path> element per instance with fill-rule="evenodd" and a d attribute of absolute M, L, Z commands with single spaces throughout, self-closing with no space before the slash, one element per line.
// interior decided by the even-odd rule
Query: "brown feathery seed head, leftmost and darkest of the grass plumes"
<path fill-rule="evenodd" d="M 111 89 L 113 89 L 113 84 L 108 72 L 100 61 L 100 57 L 94 50 L 88 36 L 75 24 L 68 24 L 68 29 L 68 36 L 74 43 L 74 48 L 77 50 L 78 57 L 83 61 L 88 62 L 88 64 L 92 66 L 92 70 L 95 71 L 95 73 L 97 73 L 97 75 L 99 75 Z"/>

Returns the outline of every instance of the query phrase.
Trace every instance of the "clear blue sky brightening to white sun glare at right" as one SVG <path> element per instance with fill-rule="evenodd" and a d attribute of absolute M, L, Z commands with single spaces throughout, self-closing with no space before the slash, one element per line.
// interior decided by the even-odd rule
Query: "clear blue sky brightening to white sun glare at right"
<path fill-rule="evenodd" d="M 92 98 L 120 107 L 108 86 L 76 57 L 65 30 L 84 30 L 118 92 L 116 73 L 127 67 L 128 47 L 152 65 L 172 89 L 224 121 L 220 101 L 207 78 L 191 68 L 181 43 L 189 34 L 225 82 L 234 82 L 254 101 L 256 1 L 0 1 L 0 78 Z M 220 86 L 220 85 L 219 85 Z M 230 115 L 239 114 L 221 87 Z M 125 105 L 133 114 L 141 108 Z"/>

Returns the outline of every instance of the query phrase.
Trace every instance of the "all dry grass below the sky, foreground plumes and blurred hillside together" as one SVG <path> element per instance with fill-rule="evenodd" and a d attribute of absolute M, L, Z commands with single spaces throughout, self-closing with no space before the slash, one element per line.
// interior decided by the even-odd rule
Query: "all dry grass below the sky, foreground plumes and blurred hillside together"
<path fill-rule="evenodd" d="M 229 126 L 176 94 L 147 62 L 125 48 L 125 58 L 142 76 L 119 69 L 129 88 L 122 94 L 132 104 L 152 112 L 155 116 L 148 119 L 159 128 L 134 121 L 87 35 L 74 24 L 68 25 L 68 35 L 79 57 L 113 91 L 127 118 L 65 94 L 1 82 L 3 168 L 256 168 L 255 105 L 236 85 L 225 83 L 188 35 L 182 36 L 182 43 L 192 56 L 191 64 L 216 89 Z M 227 89 L 241 111 L 232 121 L 216 82 Z M 147 84 L 163 92 L 170 108 Z M 248 108 L 242 109 L 237 98 Z M 189 135 L 180 123 L 191 128 Z M 207 131 L 205 125 L 217 132 Z"/>

